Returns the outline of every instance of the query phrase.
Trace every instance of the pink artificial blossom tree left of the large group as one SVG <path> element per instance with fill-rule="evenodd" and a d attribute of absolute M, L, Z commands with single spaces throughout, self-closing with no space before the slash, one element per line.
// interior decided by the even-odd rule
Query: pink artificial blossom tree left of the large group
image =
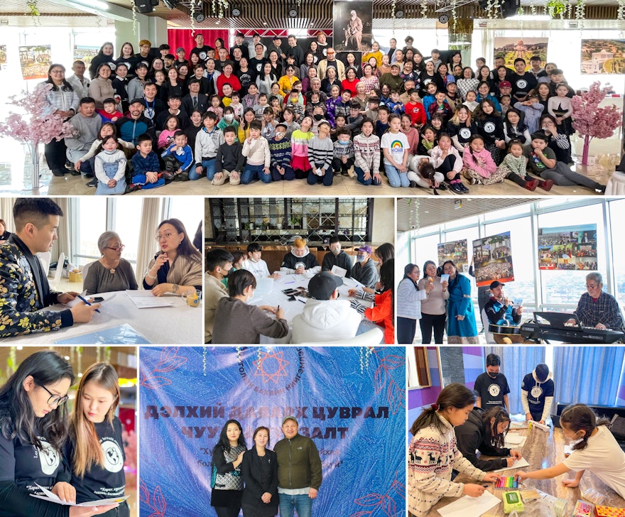
<path fill-rule="evenodd" d="M 4 122 L 0 121 L 0 135 L 10 136 L 26 143 L 34 165 L 33 188 L 39 187 L 39 143 L 73 136 L 73 126 L 65 118 L 50 112 L 46 96 L 53 85 L 43 82 L 32 93 L 22 92 L 21 97 L 12 95 L 7 104 L 20 108 L 20 113 L 11 111 Z"/>

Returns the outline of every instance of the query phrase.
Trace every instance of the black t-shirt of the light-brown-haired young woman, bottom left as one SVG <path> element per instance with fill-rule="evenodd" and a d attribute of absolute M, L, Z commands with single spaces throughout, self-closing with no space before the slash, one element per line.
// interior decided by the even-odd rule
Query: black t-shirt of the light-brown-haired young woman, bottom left
<path fill-rule="evenodd" d="M 98 435 L 102 454 L 104 454 L 104 468 L 92 465 L 85 472 L 82 479 L 72 476 L 72 486 L 76 489 L 76 502 L 85 503 L 96 499 L 109 499 L 124 495 L 126 474 L 124 474 L 124 442 L 121 440 L 121 422 L 113 419 L 113 426 L 108 420 L 94 424 Z M 72 464 L 74 443 L 68 440 L 65 447 L 65 461 Z"/>

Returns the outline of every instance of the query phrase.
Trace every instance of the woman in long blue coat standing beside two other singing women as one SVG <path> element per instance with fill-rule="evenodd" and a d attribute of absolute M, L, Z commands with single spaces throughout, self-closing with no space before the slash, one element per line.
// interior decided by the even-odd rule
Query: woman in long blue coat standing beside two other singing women
<path fill-rule="evenodd" d="M 450 276 L 447 287 L 450 293 L 447 300 L 447 343 L 479 343 L 471 299 L 471 282 L 458 273 L 453 261 L 445 261 L 442 271 Z"/>

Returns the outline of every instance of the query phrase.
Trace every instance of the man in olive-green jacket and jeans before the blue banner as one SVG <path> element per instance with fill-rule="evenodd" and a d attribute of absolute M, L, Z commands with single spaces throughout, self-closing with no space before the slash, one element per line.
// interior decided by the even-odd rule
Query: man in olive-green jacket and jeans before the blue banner
<path fill-rule="evenodd" d="M 298 434 L 298 421 L 282 420 L 284 438 L 273 450 L 278 455 L 278 494 L 280 517 L 312 517 L 312 499 L 321 486 L 321 459 L 315 442 Z"/>

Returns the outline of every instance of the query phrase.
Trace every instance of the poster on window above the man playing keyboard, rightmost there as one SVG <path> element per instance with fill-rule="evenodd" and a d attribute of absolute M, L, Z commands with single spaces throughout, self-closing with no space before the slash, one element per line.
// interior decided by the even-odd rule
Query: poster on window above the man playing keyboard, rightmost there
<path fill-rule="evenodd" d="M 538 269 L 597 271 L 597 224 L 539 228 Z"/>

